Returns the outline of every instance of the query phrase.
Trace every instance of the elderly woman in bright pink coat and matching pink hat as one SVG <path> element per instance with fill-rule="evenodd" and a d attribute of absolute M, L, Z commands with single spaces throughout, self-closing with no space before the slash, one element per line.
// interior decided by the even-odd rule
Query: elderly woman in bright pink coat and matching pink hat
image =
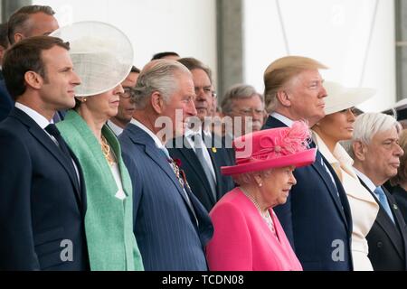
<path fill-rule="evenodd" d="M 210 270 L 289 271 L 302 267 L 273 207 L 286 202 L 296 167 L 315 161 L 308 126 L 262 130 L 236 138 L 236 165 L 222 167 L 238 187 L 210 213 L 213 239 L 206 247 Z"/>

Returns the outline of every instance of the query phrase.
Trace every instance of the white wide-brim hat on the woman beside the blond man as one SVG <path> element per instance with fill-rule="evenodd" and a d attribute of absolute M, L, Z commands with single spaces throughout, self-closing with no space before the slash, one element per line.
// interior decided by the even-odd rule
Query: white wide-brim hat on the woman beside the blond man
<path fill-rule="evenodd" d="M 327 115 L 360 105 L 376 93 L 375 89 L 345 88 L 333 81 L 325 81 L 324 88 L 327 90 L 327 98 L 324 98 Z"/>

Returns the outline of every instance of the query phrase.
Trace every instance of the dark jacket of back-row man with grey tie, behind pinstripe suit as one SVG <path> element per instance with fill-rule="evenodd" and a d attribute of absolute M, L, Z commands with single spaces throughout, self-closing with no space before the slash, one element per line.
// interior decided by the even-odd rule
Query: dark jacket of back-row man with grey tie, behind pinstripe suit
<path fill-rule="evenodd" d="M 224 141 L 221 137 L 214 137 L 211 143 L 216 149 L 208 148 L 208 153 L 211 156 L 213 170 L 216 176 L 216 199 L 213 196 L 208 178 L 204 173 L 204 168 L 198 157 L 194 153 L 194 149 L 187 148 L 184 145 L 179 147 L 179 144 L 185 144 L 184 137 L 173 140 L 171 148 L 168 151 L 173 159 L 181 161 L 181 169 L 185 171 L 186 179 L 188 180 L 191 190 L 198 200 L 202 202 L 205 209 L 211 211 L 214 204 L 222 198 L 222 196 L 234 189 L 235 185 L 232 177 L 222 175 L 221 166 L 234 165 L 235 160 L 232 159 L 232 148 L 225 148 Z M 206 143 L 205 143 L 206 144 Z M 178 147 L 178 148 L 177 148 Z"/>

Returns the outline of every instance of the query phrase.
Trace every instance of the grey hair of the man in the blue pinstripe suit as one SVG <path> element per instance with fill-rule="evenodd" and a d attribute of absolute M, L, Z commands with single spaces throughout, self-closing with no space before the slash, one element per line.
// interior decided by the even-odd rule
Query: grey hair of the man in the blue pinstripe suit
<path fill-rule="evenodd" d="M 132 89 L 131 98 L 136 104 L 137 109 L 143 109 L 147 106 L 147 99 L 158 91 L 164 101 L 168 103 L 171 96 L 179 87 L 177 80 L 178 73 L 191 72 L 180 62 L 171 60 L 151 61 L 141 70 L 137 83 Z"/>

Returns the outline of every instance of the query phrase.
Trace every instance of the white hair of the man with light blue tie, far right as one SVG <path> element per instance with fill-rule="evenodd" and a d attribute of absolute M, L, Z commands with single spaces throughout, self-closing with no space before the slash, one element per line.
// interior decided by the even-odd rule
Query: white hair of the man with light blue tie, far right
<path fill-rule="evenodd" d="M 348 154 L 355 159 L 352 146 L 356 141 L 370 144 L 374 135 L 391 130 L 393 127 L 396 128 L 398 134 L 402 132 L 402 125 L 395 117 L 382 113 L 364 113 L 356 117 L 352 142 L 346 145 Z"/>

